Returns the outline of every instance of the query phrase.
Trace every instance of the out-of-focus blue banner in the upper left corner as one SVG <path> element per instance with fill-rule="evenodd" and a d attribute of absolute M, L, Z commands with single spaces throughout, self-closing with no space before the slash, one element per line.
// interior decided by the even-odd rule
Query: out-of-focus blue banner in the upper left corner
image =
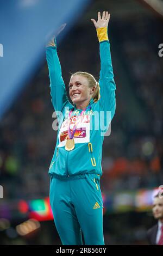
<path fill-rule="evenodd" d="M 62 23 L 70 29 L 89 2 L 0 1 L 0 119 L 39 68 L 49 36 Z"/>

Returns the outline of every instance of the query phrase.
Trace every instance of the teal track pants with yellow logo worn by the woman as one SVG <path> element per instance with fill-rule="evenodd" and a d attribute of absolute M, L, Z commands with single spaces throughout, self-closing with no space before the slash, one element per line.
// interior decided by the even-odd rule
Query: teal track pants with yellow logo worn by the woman
<path fill-rule="evenodd" d="M 103 199 L 97 174 L 51 176 L 50 203 L 62 245 L 104 245 Z M 82 232 L 81 232 L 82 230 Z"/>

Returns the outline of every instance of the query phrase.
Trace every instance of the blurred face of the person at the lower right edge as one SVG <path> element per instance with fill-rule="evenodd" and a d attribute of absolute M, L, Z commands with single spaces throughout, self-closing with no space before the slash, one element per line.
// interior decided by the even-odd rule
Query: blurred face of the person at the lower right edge
<path fill-rule="evenodd" d="M 155 197 L 153 200 L 153 216 L 163 222 L 163 198 Z"/>

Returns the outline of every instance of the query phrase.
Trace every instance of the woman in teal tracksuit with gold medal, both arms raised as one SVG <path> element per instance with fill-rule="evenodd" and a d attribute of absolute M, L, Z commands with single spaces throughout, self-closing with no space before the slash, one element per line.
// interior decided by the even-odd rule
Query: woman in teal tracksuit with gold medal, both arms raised
<path fill-rule="evenodd" d="M 52 103 L 59 121 L 57 144 L 49 167 L 50 202 L 62 245 L 82 245 L 82 232 L 85 245 L 104 245 L 99 183 L 104 133 L 101 125 L 95 129 L 97 120 L 92 115 L 109 112 L 111 118 L 103 119 L 109 127 L 115 113 L 116 85 L 108 39 L 109 19 L 108 11 L 103 11 L 102 17 L 98 12 L 97 22 L 91 19 L 99 40 L 99 83 L 86 72 L 73 74 L 69 83 L 72 104 L 66 96 L 56 41 L 46 48 Z"/>

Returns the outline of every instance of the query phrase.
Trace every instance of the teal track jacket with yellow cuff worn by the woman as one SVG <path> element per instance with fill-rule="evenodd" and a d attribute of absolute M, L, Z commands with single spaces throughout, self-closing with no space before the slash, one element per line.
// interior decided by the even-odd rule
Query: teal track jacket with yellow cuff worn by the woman
<path fill-rule="evenodd" d="M 72 105 L 66 96 L 57 47 L 49 46 L 46 48 L 52 103 L 59 123 L 57 143 L 49 167 L 49 174 L 51 175 L 71 176 L 84 173 L 102 175 L 102 144 L 104 133 L 115 114 L 116 85 L 107 28 L 98 28 L 97 35 L 101 59 L 99 77 L 101 97 L 96 103 L 91 99 L 90 108 L 82 117 L 80 115 L 82 109 L 77 109 L 76 105 Z M 69 120 L 70 128 L 72 129 L 77 122 L 77 131 L 74 134 L 75 148 L 72 151 L 66 151 L 68 113 L 71 110 L 73 112 Z"/>

